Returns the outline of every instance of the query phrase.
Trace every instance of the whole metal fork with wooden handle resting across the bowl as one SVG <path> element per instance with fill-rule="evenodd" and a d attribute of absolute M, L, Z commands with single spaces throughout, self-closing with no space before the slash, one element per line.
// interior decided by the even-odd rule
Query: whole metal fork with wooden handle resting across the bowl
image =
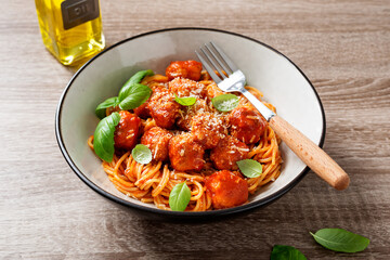
<path fill-rule="evenodd" d="M 246 83 L 245 75 L 217 44 L 213 42 L 206 43 L 205 47 L 200 48 L 200 51 L 195 52 L 221 90 L 225 92 L 240 92 L 245 95 L 269 121 L 270 127 L 275 133 L 320 178 L 336 190 L 341 191 L 348 187 L 350 182 L 349 176 L 335 160 L 244 88 Z"/>

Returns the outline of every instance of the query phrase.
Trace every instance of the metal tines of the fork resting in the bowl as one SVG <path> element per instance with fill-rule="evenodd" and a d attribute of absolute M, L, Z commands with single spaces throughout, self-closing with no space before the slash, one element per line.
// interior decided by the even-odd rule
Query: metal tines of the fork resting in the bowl
<path fill-rule="evenodd" d="M 205 47 L 200 47 L 200 51 L 202 53 L 197 51 L 195 53 L 217 83 L 227 78 L 226 75 L 238 70 L 237 66 L 213 42 L 205 43 Z"/>

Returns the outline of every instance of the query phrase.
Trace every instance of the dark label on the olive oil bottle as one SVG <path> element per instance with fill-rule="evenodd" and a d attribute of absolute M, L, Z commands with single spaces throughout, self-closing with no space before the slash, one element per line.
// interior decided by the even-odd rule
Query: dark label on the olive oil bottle
<path fill-rule="evenodd" d="M 70 29 L 100 15 L 99 0 L 66 0 L 61 3 L 64 29 Z"/>

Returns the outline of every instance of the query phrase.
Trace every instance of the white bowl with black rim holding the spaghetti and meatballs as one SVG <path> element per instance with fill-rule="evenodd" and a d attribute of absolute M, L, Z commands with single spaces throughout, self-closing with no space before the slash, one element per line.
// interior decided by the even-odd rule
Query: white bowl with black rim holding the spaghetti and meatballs
<path fill-rule="evenodd" d="M 141 69 L 164 74 L 171 61 L 197 60 L 194 50 L 205 42 L 220 46 L 258 88 L 277 114 L 314 143 L 325 136 L 324 109 L 315 89 L 304 74 L 275 49 L 237 34 L 206 28 L 171 28 L 139 35 L 101 52 L 82 66 L 65 88 L 56 112 L 55 130 L 60 148 L 76 174 L 91 188 L 119 204 L 171 217 L 224 216 L 264 206 L 296 185 L 307 166 L 282 143 L 280 178 L 249 196 L 249 203 L 230 209 L 206 212 L 177 212 L 157 209 L 120 193 L 108 180 L 101 160 L 87 145 L 99 119 L 94 109 Z M 303 50 L 302 50 L 303 51 Z"/>

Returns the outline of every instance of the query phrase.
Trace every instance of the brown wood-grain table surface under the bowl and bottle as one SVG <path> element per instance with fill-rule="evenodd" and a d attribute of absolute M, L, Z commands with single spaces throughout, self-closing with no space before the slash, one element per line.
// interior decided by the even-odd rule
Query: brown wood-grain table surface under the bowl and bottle
<path fill-rule="evenodd" d="M 313 172 L 274 204 L 203 223 L 146 220 L 70 170 L 54 116 L 75 70 L 46 51 L 34 1 L 0 16 L 0 259 L 269 259 L 290 245 L 308 259 L 390 259 L 390 2 L 101 1 L 107 44 L 167 27 L 212 27 L 271 44 L 313 82 L 324 150 L 350 174 L 338 192 Z M 342 227 L 370 239 L 338 253 L 309 234 Z"/>

